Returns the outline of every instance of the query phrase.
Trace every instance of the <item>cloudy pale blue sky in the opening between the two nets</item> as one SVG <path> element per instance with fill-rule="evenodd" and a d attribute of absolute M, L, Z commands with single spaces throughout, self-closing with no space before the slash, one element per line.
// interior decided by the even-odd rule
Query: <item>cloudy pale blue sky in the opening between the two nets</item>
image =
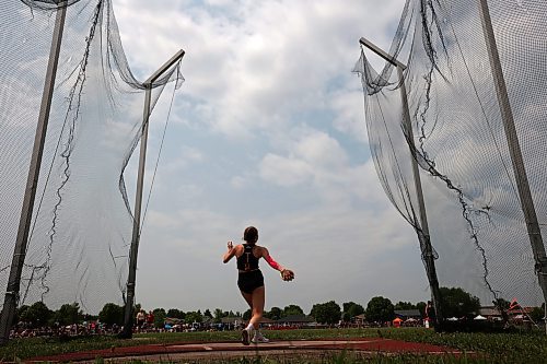
<path fill-rule="evenodd" d="M 388 49 L 404 2 L 114 1 L 139 79 L 186 51 L 142 225 L 138 303 L 246 310 L 235 260 L 222 255 L 248 225 L 295 272 L 283 282 L 261 262 L 266 310 L 428 300 L 416 234 L 370 157 L 351 72 L 360 37 Z M 149 183 L 170 99 L 152 117 Z"/>

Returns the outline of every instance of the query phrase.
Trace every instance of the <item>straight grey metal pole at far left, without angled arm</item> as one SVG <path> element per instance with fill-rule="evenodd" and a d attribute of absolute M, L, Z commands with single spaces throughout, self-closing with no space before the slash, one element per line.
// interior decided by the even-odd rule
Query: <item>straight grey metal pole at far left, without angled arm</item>
<path fill-rule="evenodd" d="M 3 309 L 0 316 L 0 344 L 8 342 L 10 330 L 15 316 L 16 305 L 19 303 L 19 291 L 21 289 L 21 274 L 26 257 L 26 247 L 28 243 L 28 232 L 36 197 L 36 187 L 38 184 L 42 156 L 44 154 L 44 143 L 47 133 L 47 124 L 49 121 L 49 110 L 51 108 L 51 98 L 55 87 L 55 78 L 57 74 L 57 64 L 62 40 L 62 31 L 67 14 L 66 1 L 60 2 L 55 20 L 54 36 L 47 64 L 44 91 L 42 94 L 42 104 L 39 107 L 38 125 L 34 138 L 33 154 L 26 179 L 25 197 L 21 209 L 19 221 L 18 238 L 13 251 L 13 258 L 10 268 L 10 279 L 5 290 Z"/>

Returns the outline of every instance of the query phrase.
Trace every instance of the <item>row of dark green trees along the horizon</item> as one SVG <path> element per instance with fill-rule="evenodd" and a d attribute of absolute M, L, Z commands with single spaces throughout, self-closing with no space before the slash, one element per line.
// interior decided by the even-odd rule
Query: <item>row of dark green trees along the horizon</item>
<path fill-rule="evenodd" d="M 445 318 L 470 318 L 478 314 L 480 302 L 476 296 L 473 296 L 459 287 L 441 287 L 440 291 L 442 297 L 441 310 Z M 496 302 L 492 302 L 492 305 L 498 307 L 501 312 L 505 312 L 510 303 L 503 298 L 498 298 Z M 393 304 L 389 298 L 375 296 L 369 301 L 366 306 L 362 306 L 354 302 L 346 302 L 342 303 L 340 307 L 335 301 L 314 304 L 309 316 L 312 316 L 318 324 L 327 325 L 338 324 L 339 321 L 350 321 L 353 317 L 359 315 L 364 315 L 369 322 L 386 322 L 395 318 L 395 310 L 401 309 L 417 309 L 423 318 L 427 316 L 426 307 L 426 302 L 412 304 L 410 302 L 399 301 Z M 135 306 L 135 313 L 138 313 L 141 308 L 141 305 L 137 304 Z M 163 327 L 167 317 L 183 320 L 186 324 L 200 324 L 206 321 L 220 324 L 222 319 L 226 317 L 236 317 L 242 320 L 251 318 L 251 309 L 247 309 L 243 314 L 240 312 L 223 310 L 221 308 L 216 308 L 213 312 L 210 309 L 205 309 L 203 312 L 198 309 L 186 313 L 178 308 L 170 308 L 167 310 L 164 308 L 154 308 L 151 310 L 154 316 L 154 326 L 158 328 Z M 272 320 L 279 320 L 295 315 L 305 314 L 300 306 L 294 304 L 288 305 L 284 308 L 271 307 L 270 310 L 264 313 L 264 317 Z M 540 319 L 543 317 L 543 309 L 537 307 L 531 316 L 533 319 Z M 98 320 L 100 322 L 110 326 L 121 326 L 124 322 L 124 306 L 119 306 L 115 303 L 107 303 L 103 306 L 98 315 L 94 316 L 84 314 L 78 303 L 63 304 L 59 309 L 51 310 L 45 303 L 36 302 L 31 306 L 23 305 L 19 307 L 15 322 L 25 322 L 31 327 L 37 328 L 55 325 L 67 326 L 93 320 Z"/>

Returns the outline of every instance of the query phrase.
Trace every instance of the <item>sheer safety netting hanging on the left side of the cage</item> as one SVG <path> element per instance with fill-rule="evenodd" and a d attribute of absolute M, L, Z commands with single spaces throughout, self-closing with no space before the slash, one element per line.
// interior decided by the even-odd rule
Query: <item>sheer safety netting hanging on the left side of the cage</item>
<path fill-rule="evenodd" d="M 110 0 L 8 0 L 1 8 L 0 286 L 10 279 L 54 30 L 65 9 L 18 303 L 58 309 L 75 302 L 96 315 L 125 300 L 135 201 L 125 173 L 138 154 L 147 86 L 129 68 Z M 149 87 L 151 110 L 165 87 L 174 92 L 184 81 L 179 66 Z"/>

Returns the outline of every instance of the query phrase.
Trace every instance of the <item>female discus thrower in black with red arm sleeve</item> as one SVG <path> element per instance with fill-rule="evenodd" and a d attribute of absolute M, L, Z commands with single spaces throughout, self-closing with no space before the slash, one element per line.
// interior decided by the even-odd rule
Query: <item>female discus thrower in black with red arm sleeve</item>
<path fill-rule="evenodd" d="M 232 242 L 228 242 L 228 251 L 224 254 L 222 261 L 229 262 L 234 256 L 237 260 L 237 286 L 241 294 L 251 307 L 252 317 L 245 329 L 242 331 L 242 342 L 248 345 L 249 342 L 268 342 L 259 331 L 260 320 L 264 314 L 264 277 L 258 269 L 258 260 L 264 258 L 268 265 L 281 272 L 283 281 L 292 281 L 294 273 L 292 270 L 284 268 L 271 258 L 268 249 L 256 245 L 258 242 L 258 230 L 254 226 L 248 226 L 243 233 L 244 244 L 233 246 Z"/>

